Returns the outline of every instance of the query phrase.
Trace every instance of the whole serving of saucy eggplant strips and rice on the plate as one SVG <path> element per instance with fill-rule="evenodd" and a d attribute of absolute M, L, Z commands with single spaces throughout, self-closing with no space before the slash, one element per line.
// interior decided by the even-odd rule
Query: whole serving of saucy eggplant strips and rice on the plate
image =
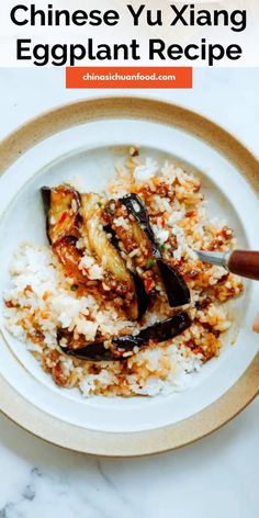
<path fill-rule="evenodd" d="M 233 230 L 206 214 L 199 178 L 131 149 L 103 192 L 42 189 L 48 245 L 23 243 L 5 327 L 63 387 L 85 396 L 169 394 L 223 347 L 241 281 L 198 260 Z"/>

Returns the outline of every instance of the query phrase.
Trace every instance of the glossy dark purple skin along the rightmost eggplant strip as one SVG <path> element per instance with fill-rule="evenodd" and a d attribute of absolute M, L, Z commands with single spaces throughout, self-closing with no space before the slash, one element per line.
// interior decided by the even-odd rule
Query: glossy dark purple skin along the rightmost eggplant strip
<path fill-rule="evenodd" d="M 120 201 L 125 205 L 128 212 L 133 214 L 151 244 L 153 255 L 157 261 L 170 307 L 189 304 L 191 300 L 190 290 L 183 277 L 164 260 L 149 223 L 146 206 L 137 194 L 132 193 L 126 194 Z"/>

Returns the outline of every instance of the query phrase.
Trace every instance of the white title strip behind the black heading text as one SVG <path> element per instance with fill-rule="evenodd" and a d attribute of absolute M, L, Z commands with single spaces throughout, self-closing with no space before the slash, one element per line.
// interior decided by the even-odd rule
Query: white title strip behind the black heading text
<path fill-rule="evenodd" d="M 59 26 L 55 25 L 41 25 L 38 23 L 38 16 L 36 16 L 36 24 L 34 26 L 30 24 L 16 25 L 12 23 L 10 19 L 10 11 L 16 4 L 30 4 L 35 3 L 36 9 L 43 9 L 46 13 L 47 4 L 53 4 L 54 9 L 67 9 L 70 12 L 76 11 L 77 9 L 83 9 L 88 13 L 91 10 L 99 8 L 99 10 L 104 13 L 108 10 L 115 10 L 120 14 L 120 21 L 114 26 L 109 26 L 101 24 L 100 26 L 91 26 L 89 23 L 82 26 L 77 26 L 70 24 L 69 26 L 61 24 Z M 146 5 L 146 9 L 143 11 L 139 18 L 138 26 L 134 26 L 133 16 L 131 15 L 127 4 L 131 3 L 135 11 L 139 8 L 140 3 Z M 165 61 L 159 57 L 155 56 L 154 61 L 148 59 L 148 38 L 161 38 L 166 42 L 166 46 L 171 44 L 181 44 L 183 47 L 190 44 L 201 45 L 201 37 L 205 37 L 207 43 L 211 44 L 221 44 L 225 48 L 232 44 L 238 44 L 243 48 L 241 58 L 237 60 L 229 60 L 224 57 L 221 61 L 214 61 L 215 66 L 221 67 L 256 67 L 258 66 L 259 58 L 259 40 L 258 40 L 258 20 L 259 20 L 259 3 L 258 0 L 193 0 L 189 4 L 194 4 L 194 12 L 201 9 L 205 9 L 211 12 L 213 20 L 214 10 L 227 10 L 229 14 L 229 23 L 227 26 L 222 24 L 222 19 L 219 24 L 216 26 L 204 26 L 199 25 L 194 22 L 194 25 L 189 24 L 189 9 L 184 13 L 188 25 L 183 25 L 181 22 L 171 26 L 171 21 L 173 20 L 173 12 L 170 8 L 172 2 L 170 0 L 149 0 L 148 2 L 140 2 L 139 0 L 99 0 L 97 5 L 97 0 L 55 0 L 53 2 L 47 2 L 46 0 L 36 0 L 35 2 L 16 2 L 15 0 L 4 0 L 1 1 L 1 16 L 0 16 L 0 65 L 2 67 L 30 67 L 32 61 L 27 60 L 16 60 L 16 40 L 32 40 L 30 44 L 30 55 L 32 55 L 32 47 L 36 44 L 64 44 L 64 43 L 79 43 L 82 45 L 87 44 L 87 38 L 94 40 L 94 48 L 98 44 L 109 44 L 113 45 L 114 43 L 126 43 L 130 44 L 132 38 L 136 38 L 139 43 L 140 57 L 138 61 L 131 59 L 125 61 L 121 58 L 117 61 L 114 61 L 113 65 L 138 65 L 138 66 L 162 66 Z M 184 0 L 178 0 L 174 2 L 180 9 L 180 4 L 184 3 Z M 185 2 L 187 3 L 187 2 Z M 162 12 L 162 25 L 150 26 L 147 24 L 147 10 L 151 10 L 153 20 L 156 20 L 157 10 Z M 247 11 L 247 27 L 241 32 L 236 32 L 232 30 L 230 14 L 235 10 Z M 29 16 L 27 16 L 29 14 Z M 19 10 L 16 13 L 16 19 L 19 21 L 24 21 L 24 19 L 30 20 L 30 13 L 24 13 Z M 195 16 L 196 19 L 196 16 Z M 213 23 L 213 22 L 212 22 Z M 24 46 L 24 45 L 23 45 Z M 25 53 L 27 55 L 27 52 Z M 23 53 L 24 55 L 24 53 Z M 78 61 L 77 66 L 94 66 L 98 65 L 98 61 L 89 60 L 88 57 L 83 61 Z M 183 56 L 180 61 L 170 60 L 169 58 L 166 61 L 167 66 L 182 65 L 182 66 L 192 66 L 192 61 L 185 59 Z M 195 66 L 204 67 L 206 66 L 207 60 L 199 59 L 195 61 Z M 99 65 L 112 65 L 112 61 L 100 61 Z"/>

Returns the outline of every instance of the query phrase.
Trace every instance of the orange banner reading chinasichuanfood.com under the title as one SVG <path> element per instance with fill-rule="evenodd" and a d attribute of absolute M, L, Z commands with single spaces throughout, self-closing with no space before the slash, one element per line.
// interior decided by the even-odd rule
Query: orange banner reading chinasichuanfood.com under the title
<path fill-rule="evenodd" d="M 67 67 L 66 88 L 192 88 L 192 68 Z"/>

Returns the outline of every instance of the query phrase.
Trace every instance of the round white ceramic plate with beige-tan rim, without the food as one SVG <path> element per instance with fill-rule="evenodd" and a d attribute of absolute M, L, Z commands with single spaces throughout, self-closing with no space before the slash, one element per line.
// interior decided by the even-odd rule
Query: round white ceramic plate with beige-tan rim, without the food
<path fill-rule="evenodd" d="M 98 188 L 111 160 L 123 155 L 131 143 L 140 144 L 143 153 L 172 158 L 199 170 L 217 211 L 229 215 L 240 241 L 256 246 L 256 158 L 224 130 L 189 110 L 159 101 L 113 97 L 53 110 L 0 145 L 4 173 L 0 179 L 0 238 L 5 232 L 5 243 L 10 241 L 0 257 L 2 272 L 16 235 L 22 236 L 26 227 L 24 214 L 27 222 L 32 219 L 31 195 L 37 224 L 35 192 L 43 178 L 59 178 L 83 167 L 88 169 L 90 189 Z M 249 204 L 250 214 L 240 211 L 243 203 Z M 50 386 L 26 353 L 21 353 L 22 348 L 3 333 L 0 408 L 47 441 L 92 454 L 144 455 L 195 441 L 236 416 L 257 394 L 259 357 L 250 326 L 258 286 L 248 284 L 246 291 L 245 302 L 237 309 L 245 316 L 240 317 L 236 346 L 228 345 L 222 358 L 210 362 L 189 393 L 151 402 L 81 402 Z"/>

